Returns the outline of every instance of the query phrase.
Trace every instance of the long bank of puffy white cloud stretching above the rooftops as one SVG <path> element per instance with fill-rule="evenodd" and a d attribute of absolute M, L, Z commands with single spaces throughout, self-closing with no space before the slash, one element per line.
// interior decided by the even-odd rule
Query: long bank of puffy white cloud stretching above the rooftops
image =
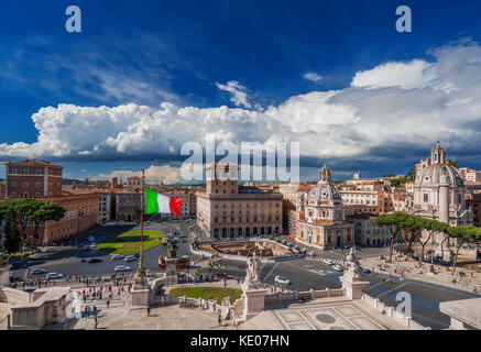
<path fill-rule="evenodd" d="M 384 63 L 356 74 L 350 87 L 294 96 L 250 110 L 238 82 L 220 85 L 244 108 L 158 108 L 59 105 L 32 116 L 34 143 L 2 143 L 0 157 L 179 161 L 184 142 L 300 142 L 302 156 L 382 161 L 393 145 L 427 150 L 439 136 L 449 147 L 481 146 L 481 46 L 440 47 L 434 61 Z M 230 87 L 230 88 L 229 88 Z M 479 148 L 479 147 L 478 147 Z M 448 150 L 449 152 L 449 150 Z"/>

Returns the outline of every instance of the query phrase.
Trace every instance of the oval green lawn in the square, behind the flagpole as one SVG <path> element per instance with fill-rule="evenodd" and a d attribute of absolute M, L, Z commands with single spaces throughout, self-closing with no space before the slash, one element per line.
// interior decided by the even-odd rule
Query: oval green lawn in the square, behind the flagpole
<path fill-rule="evenodd" d="M 162 244 L 164 234 L 161 231 L 143 231 L 143 249 L 149 251 Z M 140 252 L 140 230 L 129 231 L 111 237 L 106 242 L 99 244 L 99 251 L 108 254 L 132 254 Z"/>

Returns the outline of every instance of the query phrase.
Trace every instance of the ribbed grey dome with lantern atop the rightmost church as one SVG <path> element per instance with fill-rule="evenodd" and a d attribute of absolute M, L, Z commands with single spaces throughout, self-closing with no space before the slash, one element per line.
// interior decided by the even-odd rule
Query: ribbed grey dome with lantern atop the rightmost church
<path fill-rule="evenodd" d="M 431 151 L 430 165 L 416 175 L 415 186 L 433 186 L 441 184 L 441 176 L 446 176 L 449 186 L 464 187 L 464 180 L 458 168 L 446 163 L 446 151 L 439 142 Z"/>

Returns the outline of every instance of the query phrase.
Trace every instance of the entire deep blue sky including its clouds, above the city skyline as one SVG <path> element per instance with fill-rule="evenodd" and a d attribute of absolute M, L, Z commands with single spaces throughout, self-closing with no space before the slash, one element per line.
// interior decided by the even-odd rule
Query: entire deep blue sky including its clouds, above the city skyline
<path fill-rule="evenodd" d="M 70 4 L 81 33 L 65 31 Z M 400 4 L 412 33 L 395 31 Z M 43 157 L 72 177 L 168 165 L 175 177 L 184 139 L 217 132 L 300 141 L 305 177 L 323 161 L 339 178 L 405 173 L 437 136 L 481 168 L 480 13 L 478 1 L 4 0 L 0 160 Z M 370 134 L 384 127 L 375 114 L 392 134 Z"/>

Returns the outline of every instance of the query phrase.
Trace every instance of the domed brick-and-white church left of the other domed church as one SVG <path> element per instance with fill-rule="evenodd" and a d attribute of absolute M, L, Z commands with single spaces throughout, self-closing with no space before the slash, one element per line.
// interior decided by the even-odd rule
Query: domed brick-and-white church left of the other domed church
<path fill-rule="evenodd" d="M 346 221 L 341 194 L 332 184 L 330 169 L 319 169 L 319 182 L 297 200 L 299 220 L 296 241 L 318 249 L 354 244 L 354 228 Z"/>

